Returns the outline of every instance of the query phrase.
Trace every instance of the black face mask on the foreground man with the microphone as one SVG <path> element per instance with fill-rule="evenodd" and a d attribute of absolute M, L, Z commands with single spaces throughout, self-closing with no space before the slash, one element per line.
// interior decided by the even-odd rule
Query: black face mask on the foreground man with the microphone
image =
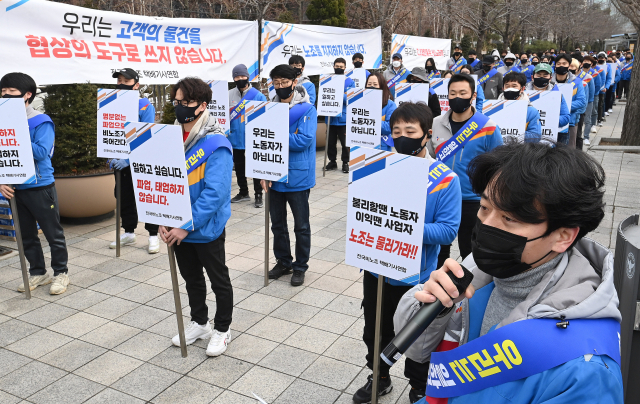
<path fill-rule="evenodd" d="M 510 278 L 531 269 L 532 265 L 551 254 L 552 251 L 549 251 L 544 257 L 531 264 L 522 262 L 522 252 L 527 243 L 542 237 L 544 235 L 529 240 L 526 237 L 484 225 L 480 219 L 476 219 L 476 225 L 471 232 L 473 260 L 482 272 L 494 278 Z"/>

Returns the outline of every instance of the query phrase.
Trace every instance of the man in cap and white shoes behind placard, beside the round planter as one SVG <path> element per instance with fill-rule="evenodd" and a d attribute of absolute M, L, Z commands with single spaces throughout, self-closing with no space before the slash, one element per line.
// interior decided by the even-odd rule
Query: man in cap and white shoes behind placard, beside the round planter
<path fill-rule="evenodd" d="M 125 68 L 116 70 L 112 77 L 117 79 L 116 89 L 118 90 L 139 90 L 140 77 L 133 69 Z M 156 109 L 147 98 L 140 98 L 138 102 L 138 122 L 154 123 L 156 120 Z M 136 193 L 131 176 L 129 159 L 112 159 L 109 161 L 109 168 L 120 172 L 120 217 L 124 233 L 120 235 L 120 245 L 134 245 L 136 243 L 136 227 L 138 227 L 138 210 L 136 208 Z M 113 191 L 116 193 L 115 189 Z M 149 232 L 147 251 L 149 254 L 160 252 L 160 240 L 158 239 L 158 225 L 145 223 L 144 228 Z M 109 248 L 116 248 L 116 242 L 109 244 Z"/>

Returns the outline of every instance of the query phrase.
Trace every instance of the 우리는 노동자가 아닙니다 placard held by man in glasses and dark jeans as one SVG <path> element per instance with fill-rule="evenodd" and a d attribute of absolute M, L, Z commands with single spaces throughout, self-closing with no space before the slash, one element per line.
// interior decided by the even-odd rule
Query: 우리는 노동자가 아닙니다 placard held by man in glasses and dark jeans
<path fill-rule="evenodd" d="M 249 101 L 245 106 L 246 173 L 251 178 L 287 182 L 289 104 Z"/>

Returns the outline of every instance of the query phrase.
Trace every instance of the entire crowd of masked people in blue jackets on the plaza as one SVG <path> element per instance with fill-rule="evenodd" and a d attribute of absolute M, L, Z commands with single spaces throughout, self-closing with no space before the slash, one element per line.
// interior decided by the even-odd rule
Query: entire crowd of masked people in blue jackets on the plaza
<path fill-rule="evenodd" d="M 581 149 L 589 145 L 589 134 L 602 125 L 616 100 L 628 95 L 633 55 L 628 50 L 594 54 L 576 49 L 556 54 L 555 49 L 550 49 L 540 54 L 494 51 L 478 55 L 469 51 L 465 58 L 456 47 L 444 71 L 437 69 L 432 58 L 425 61 L 424 68 L 414 66 L 411 70 L 403 65 L 402 59 L 401 54 L 394 54 L 384 71 L 366 73 L 365 87 L 382 91 L 380 148 L 424 158 L 430 166 L 445 170 L 452 180 L 427 198 L 419 284 L 385 280 L 381 346 L 384 348 L 393 339 L 417 308 L 440 300 L 446 309 L 406 352 L 404 374 L 411 385 L 411 403 L 444 403 L 447 399 L 429 397 L 427 386 L 436 383 L 433 379 L 444 383 L 445 377 L 451 377 L 453 385 L 458 379 L 452 374 L 443 376 L 442 368 L 430 366 L 432 353 L 463 347 L 474 340 L 480 344 L 500 329 L 509 335 L 511 325 L 532 318 L 620 321 L 611 252 L 585 238 L 604 217 L 604 171 Z M 355 54 L 349 66 L 345 59 L 337 58 L 334 73 L 345 74 L 348 68 L 359 68 L 363 60 L 362 54 Z M 275 88 L 271 101 L 289 106 L 288 182 L 252 179 L 255 207 L 263 206 L 263 193 L 270 198 L 277 263 L 269 271 L 269 278 L 291 274 L 292 287 L 304 284 L 309 268 L 312 237 L 309 195 L 316 183 L 316 88 L 305 76 L 304 68 L 304 58 L 296 55 L 288 65 L 279 65 L 269 72 Z M 477 84 L 472 75 L 477 75 Z M 133 69 L 118 70 L 113 77 L 118 89 L 137 90 L 140 86 Z M 395 103 L 398 83 L 429 83 L 434 78 L 450 79 L 448 111 L 442 113 L 435 94 L 429 96 L 426 104 Z M 175 246 L 191 309 L 186 342 L 208 339 L 206 353 L 210 356 L 221 355 L 231 341 L 233 287 L 225 263 L 225 227 L 232 215 L 231 204 L 251 200 L 245 172 L 245 101 L 267 100 L 250 83 L 246 66 L 235 66 L 230 79 L 235 83 L 229 90 L 230 108 L 236 114 L 232 114 L 228 137 L 218 121 L 207 113 L 212 92 L 203 80 L 188 77 L 173 86 L 171 101 L 176 124 L 182 128 L 185 154 L 207 143 L 215 147 L 206 157 L 206 164 L 189 174 L 194 229 L 145 225 L 150 254 L 159 251 L 158 237 Z M 554 91 L 557 83 L 574 83 L 571 108 L 562 101 L 559 126 L 566 129 L 557 143 L 544 142 L 539 113 L 531 106 L 525 90 Z M 342 114 L 330 121 L 326 170 L 338 168 L 340 140 L 342 171 L 349 172 L 346 92 L 354 85 L 353 80 L 345 80 Z M 3 98 L 24 99 L 40 176 L 35 186 L 0 186 L 5 198 L 18 198 L 24 253 L 30 265 L 29 287 L 33 290 L 52 283 L 51 294 L 64 293 L 69 276 L 51 168 L 54 123 L 30 106 L 36 93 L 36 83 L 31 77 L 23 73 L 7 74 L 0 80 L 0 87 Z M 529 103 L 523 142 L 505 144 L 498 125 L 482 114 L 483 102 L 491 99 Z M 154 117 L 153 105 L 141 98 L 140 121 L 153 122 Z M 467 136 L 460 148 L 450 155 L 442 154 L 443 147 L 461 133 Z M 123 245 L 134 244 L 138 217 L 129 161 L 111 160 L 109 164 L 122 178 L 125 231 L 120 241 Z M 231 197 L 234 167 L 239 192 Z M 287 205 L 294 220 L 295 257 L 290 247 Z M 572 209 L 566 209 L 567 206 Z M 53 280 L 46 274 L 36 222 L 51 247 Z M 456 238 L 462 263 L 450 258 L 451 244 Z M 465 293 L 459 294 L 448 273 L 462 277 L 462 266 L 472 270 L 475 277 Z M 205 272 L 215 294 L 213 325 L 206 304 Z M 367 355 L 363 363 L 370 369 L 374 356 L 380 354 L 374 349 L 377 283 L 376 274 L 364 271 L 362 338 Z M 18 290 L 24 291 L 22 286 Z M 568 329 L 572 330 L 571 326 Z M 547 332 L 542 328 L 536 330 L 541 335 Z M 570 342 L 558 343 L 583 338 L 576 332 L 570 335 Z M 180 345 L 178 336 L 172 342 Z M 544 356 L 545 346 L 534 349 Z M 484 359 L 478 357 L 482 367 L 504 359 L 504 355 L 502 359 L 499 355 L 492 359 L 486 350 L 483 352 Z M 515 355 L 514 352 L 517 350 L 507 353 Z M 600 403 L 622 403 L 620 365 L 606 352 L 585 351 L 560 363 L 545 362 L 531 371 L 522 365 L 524 373 L 517 379 L 494 377 L 488 387 L 452 396 L 448 402 L 592 402 L 597 397 Z M 517 364 L 515 359 L 512 362 Z M 462 374 L 468 382 L 471 377 L 476 379 L 476 369 L 480 375 L 486 375 L 479 364 L 472 361 L 471 367 L 465 363 L 459 366 L 464 367 Z M 502 371 L 506 373 L 512 365 L 505 364 L 507 367 L 502 365 Z M 497 372 L 501 372 L 500 366 L 496 366 Z M 495 374 L 496 368 L 493 369 Z M 382 362 L 377 383 L 379 395 L 393 389 L 389 370 L 390 366 Z M 460 375 L 458 378 L 465 382 Z M 353 401 L 369 403 L 372 386 L 370 375 L 353 395 Z"/>

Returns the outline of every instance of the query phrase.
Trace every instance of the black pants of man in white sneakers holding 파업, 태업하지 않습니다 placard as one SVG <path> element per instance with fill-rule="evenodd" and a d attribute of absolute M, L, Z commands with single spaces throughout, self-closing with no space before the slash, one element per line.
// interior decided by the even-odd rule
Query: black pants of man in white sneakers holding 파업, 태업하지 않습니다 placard
<path fill-rule="evenodd" d="M 176 261 L 180 275 L 186 282 L 191 320 L 200 325 L 209 321 L 207 308 L 207 281 L 204 278 L 204 267 L 211 281 L 211 289 L 216 295 L 216 315 L 213 328 L 227 332 L 233 314 L 233 288 L 229 278 L 229 268 L 225 264 L 224 255 L 225 231 L 220 237 L 209 243 L 185 243 L 175 245 Z"/>

